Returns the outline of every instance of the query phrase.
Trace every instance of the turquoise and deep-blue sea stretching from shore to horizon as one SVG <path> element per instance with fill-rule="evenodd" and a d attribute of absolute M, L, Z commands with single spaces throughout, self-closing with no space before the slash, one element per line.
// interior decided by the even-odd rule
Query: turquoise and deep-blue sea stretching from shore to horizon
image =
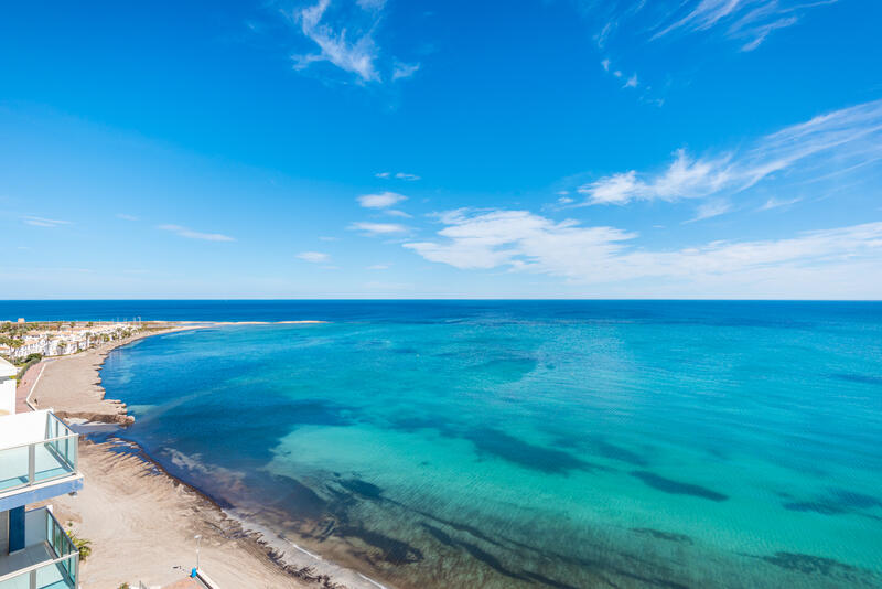
<path fill-rule="evenodd" d="M 115 351 L 122 436 L 388 586 L 882 587 L 880 303 L 205 304 L 329 323 Z"/>

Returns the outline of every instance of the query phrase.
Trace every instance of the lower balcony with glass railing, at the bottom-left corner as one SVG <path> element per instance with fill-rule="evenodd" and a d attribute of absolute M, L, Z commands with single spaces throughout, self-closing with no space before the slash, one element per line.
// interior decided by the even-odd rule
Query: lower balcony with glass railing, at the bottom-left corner
<path fill-rule="evenodd" d="M 76 589 L 79 551 L 46 507 L 24 513 L 24 548 L 0 556 L 0 589 Z"/>

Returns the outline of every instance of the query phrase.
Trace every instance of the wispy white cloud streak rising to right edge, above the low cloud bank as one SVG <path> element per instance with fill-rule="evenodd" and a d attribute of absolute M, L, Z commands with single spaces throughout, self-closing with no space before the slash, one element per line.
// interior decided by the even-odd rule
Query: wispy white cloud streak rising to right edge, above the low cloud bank
<path fill-rule="evenodd" d="M 882 100 L 875 100 L 787 127 L 745 150 L 695 158 L 680 149 L 662 172 L 620 172 L 583 184 L 578 192 L 589 204 L 731 195 L 776 173 L 800 172 L 795 175 L 805 180 L 880 158 Z"/>

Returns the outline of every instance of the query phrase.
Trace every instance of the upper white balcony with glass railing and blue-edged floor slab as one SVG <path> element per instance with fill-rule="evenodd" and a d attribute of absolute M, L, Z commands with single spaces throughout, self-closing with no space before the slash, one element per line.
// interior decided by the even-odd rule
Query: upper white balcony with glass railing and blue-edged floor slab
<path fill-rule="evenodd" d="M 0 512 L 82 489 L 77 442 L 49 410 L 0 417 Z"/>

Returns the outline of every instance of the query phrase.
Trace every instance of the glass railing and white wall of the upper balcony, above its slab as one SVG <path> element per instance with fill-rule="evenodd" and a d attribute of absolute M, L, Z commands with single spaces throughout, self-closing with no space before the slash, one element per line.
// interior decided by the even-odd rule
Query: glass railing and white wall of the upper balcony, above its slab
<path fill-rule="evenodd" d="M 0 418 L 0 494 L 75 473 L 77 440 L 50 411 Z"/>

